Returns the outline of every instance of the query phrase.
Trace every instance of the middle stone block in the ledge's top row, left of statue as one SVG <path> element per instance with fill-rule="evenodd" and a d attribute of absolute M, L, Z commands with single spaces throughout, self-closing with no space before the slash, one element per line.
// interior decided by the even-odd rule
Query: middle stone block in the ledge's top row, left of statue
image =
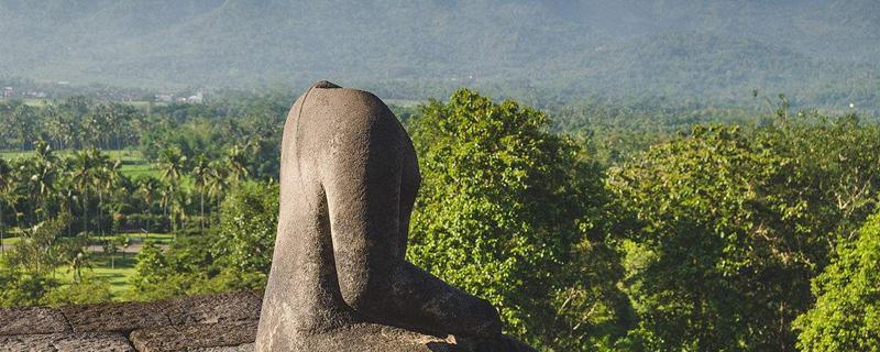
<path fill-rule="evenodd" d="M 132 331 L 168 326 L 161 304 L 127 302 L 67 306 L 61 308 L 74 332 Z"/>

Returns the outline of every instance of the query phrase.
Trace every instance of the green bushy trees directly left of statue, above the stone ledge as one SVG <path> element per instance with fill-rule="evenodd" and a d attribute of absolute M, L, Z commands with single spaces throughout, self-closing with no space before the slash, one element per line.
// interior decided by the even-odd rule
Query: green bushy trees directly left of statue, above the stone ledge
<path fill-rule="evenodd" d="M 167 251 L 138 254 L 127 298 L 152 300 L 265 286 L 278 222 L 278 185 L 244 182 L 226 198 L 220 223 L 177 237 Z"/>

